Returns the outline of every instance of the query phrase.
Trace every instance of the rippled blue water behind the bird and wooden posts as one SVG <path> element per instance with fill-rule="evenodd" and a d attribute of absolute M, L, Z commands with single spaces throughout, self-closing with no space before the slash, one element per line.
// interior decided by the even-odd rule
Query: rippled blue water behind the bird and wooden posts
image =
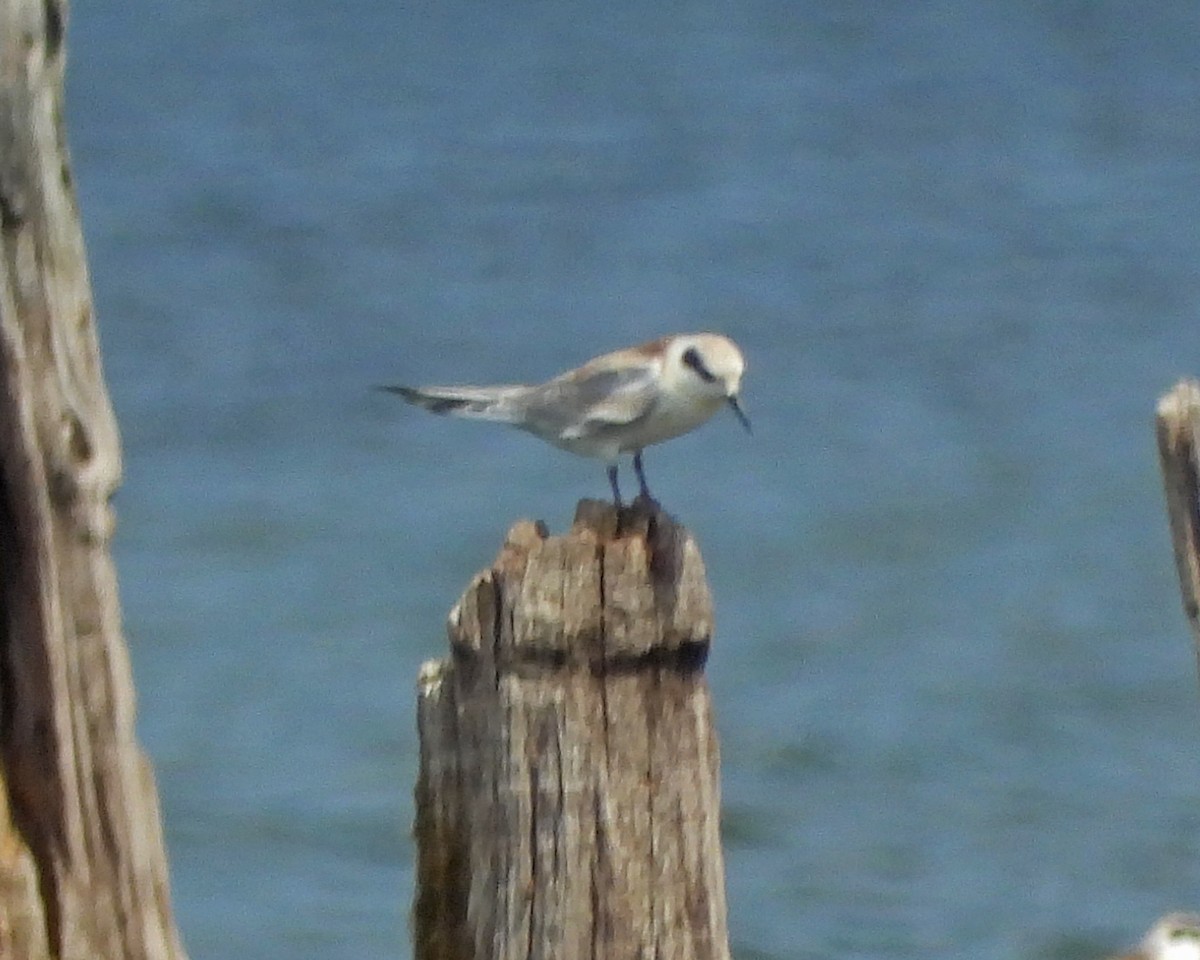
<path fill-rule="evenodd" d="M 74 4 L 115 544 L 193 960 L 408 956 L 414 680 L 599 464 L 372 384 L 743 344 L 647 455 L 716 598 L 742 960 L 1200 906 L 1152 433 L 1200 374 L 1194 0 Z"/>

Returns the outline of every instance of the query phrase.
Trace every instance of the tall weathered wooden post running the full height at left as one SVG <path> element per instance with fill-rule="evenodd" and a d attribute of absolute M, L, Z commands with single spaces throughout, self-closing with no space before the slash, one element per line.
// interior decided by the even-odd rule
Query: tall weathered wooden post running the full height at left
<path fill-rule="evenodd" d="M 0 958 L 181 960 L 133 730 L 64 0 L 0 0 Z"/>

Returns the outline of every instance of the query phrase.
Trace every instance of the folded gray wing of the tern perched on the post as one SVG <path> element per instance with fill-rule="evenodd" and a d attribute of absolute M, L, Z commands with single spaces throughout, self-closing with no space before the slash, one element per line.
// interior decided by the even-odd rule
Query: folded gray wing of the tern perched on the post
<path fill-rule="evenodd" d="M 530 388 L 524 402 L 528 428 L 577 440 L 642 420 L 656 400 L 655 371 L 637 366 L 558 377 Z"/>

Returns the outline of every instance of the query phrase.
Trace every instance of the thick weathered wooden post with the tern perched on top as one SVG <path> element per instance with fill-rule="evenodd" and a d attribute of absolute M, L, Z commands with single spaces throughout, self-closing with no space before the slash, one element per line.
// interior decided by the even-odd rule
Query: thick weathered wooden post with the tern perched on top
<path fill-rule="evenodd" d="M 419 682 L 416 960 L 728 960 L 691 535 L 592 500 L 565 536 L 517 523 L 449 632 Z"/>

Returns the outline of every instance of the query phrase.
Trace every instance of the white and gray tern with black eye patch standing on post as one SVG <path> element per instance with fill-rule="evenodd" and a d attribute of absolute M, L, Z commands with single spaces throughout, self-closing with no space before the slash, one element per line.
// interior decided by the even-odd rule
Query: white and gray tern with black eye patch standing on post
<path fill-rule="evenodd" d="M 751 432 L 739 398 L 745 359 L 720 334 L 677 334 L 596 356 L 540 384 L 379 389 L 437 414 L 492 420 L 571 454 L 607 463 L 622 505 L 617 464 L 632 455 L 640 497 L 654 503 L 642 450 L 695 430 L 730 407 Z"/>

